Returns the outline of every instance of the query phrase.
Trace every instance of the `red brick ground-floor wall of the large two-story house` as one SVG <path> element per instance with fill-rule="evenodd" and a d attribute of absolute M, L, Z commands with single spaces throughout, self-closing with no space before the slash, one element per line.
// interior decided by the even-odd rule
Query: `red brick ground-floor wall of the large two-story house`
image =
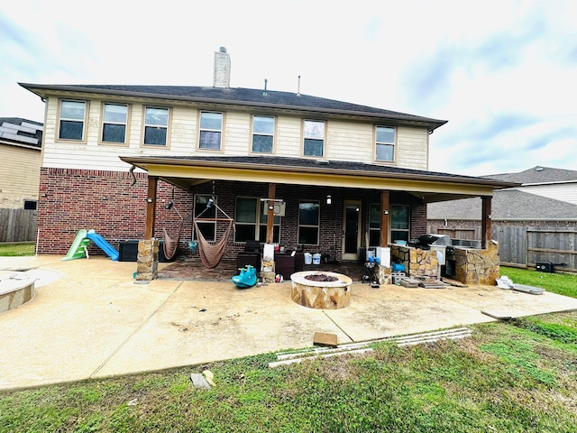
<path fill-rule="evenodd" d="M 142 173 L 135 173 L 135 176 L 137 181 L 131 186 L 132 179 L 128 172 L 42 168 L 38 204 L 38 253 L 67 253 L 78 230 L 82 228 L 95 229 L 96 233 L 117 249 L 120 241 L 142 239 L 146 222 L 148 177 Z M 267 198 L 268 188 L 268 184 L 230 181 L 216 181 L 213 184 L 207 181 L 192 191 L 185 191 L 159 181 L 154 235 L 161 238 L 163 229 L 166 229 L 171 238 L 176 237 L 179 233 L 180 213 L 184 217 L 184 225 L 178 256 L 197 258 L 198 253 L 193 253 L 188 247 L 193 237 L 195 194 L 211 195 L 214 190 L 219 207 L 234 218 L 237 195 Z M 331 205 L 326 204 L 327 194 L 332 196 Z M 276 197 L 283 198 L 287 203 L 285 217 L 281 220 L 280 244 L 287 248 L 298 246 L 298 201 L 318 200 L 321 215 L 320 244 L 305 245 L 303 250 L 327 253 L 338 260 L 342 250 L 343 201 L 362 200 L 365 211 L 363 226 L 366 227 L 368 204 L 380 202 L 380 191 L 277 185 Z M 166 208 L 169 201 L 174 203 L 172 209 Z M 391 203 L 411 205 L 411 237 L 416 238 L 426 233 L 426 207 L 420 200 L 406 193 L 393 192 Z M 225 223 L 217 224 L 217 239 L 221 238 L 225 229 Z M 362 233 L 364 242 L 364 231 Z M 233 240 L 231 234 L 225 259 L 234 259 L 244 249 L 244 244 L 235 244 Z M 91 244 L 89 251 L 96 255 L 103 253 L 94 244 Z"/>

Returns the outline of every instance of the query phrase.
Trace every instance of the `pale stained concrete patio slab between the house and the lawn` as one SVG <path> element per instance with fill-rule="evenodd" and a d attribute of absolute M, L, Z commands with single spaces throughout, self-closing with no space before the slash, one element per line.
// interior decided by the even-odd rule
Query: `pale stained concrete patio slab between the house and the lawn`
<path fill-rule="evenodd" d="M 160 263 L 160 268 L 169 263 Z M 313 345 L 339 344 L 577 309 L 577 299 L 497 287 L 413 289 L 353 284 L 351 306 L 307 309 L 290 283 L 236 289 L 232 282 L 134 284 L 135 263 L 106 257 L 3 257 L 0 271 L 36 278 L 36 297 L 0 314 L 0 390 L 206 364 Z"/>

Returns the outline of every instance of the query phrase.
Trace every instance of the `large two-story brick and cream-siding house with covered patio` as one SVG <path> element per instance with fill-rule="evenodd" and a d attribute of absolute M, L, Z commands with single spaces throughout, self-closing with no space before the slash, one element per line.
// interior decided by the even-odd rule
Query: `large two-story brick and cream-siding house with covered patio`
<path fill-rule="evenodd" d="M 181 214 L 179 255 L 197 257 L 193 218 L 212 218 L 198 222 L 209 241 L 224 233 L 213 197 L 235 222 L 226 258 L 258 240 L 357 260 L 425 235 L 429 202 L 483 197 L 490 213 L 493 189 L 513 185 L 428 171 L 444 120 L 229 88 L 229 74 L 221 50 L 213 87 L 21 84 L 46 101 L 39 253 L 66 253 L 80 228 L 112 244 L 174 237 Z"/>

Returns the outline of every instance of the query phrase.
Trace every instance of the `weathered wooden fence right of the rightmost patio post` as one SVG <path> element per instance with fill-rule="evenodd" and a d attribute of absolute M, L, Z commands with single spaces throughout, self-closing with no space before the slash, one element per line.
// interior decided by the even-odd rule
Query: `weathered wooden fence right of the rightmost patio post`
<path fill-rule="evenodd" d="M 534 267 L 537 262 L 551 262 L 556 268 L 577 272 L 577 231 L 574 228 L 493 226 L 491 235 L 499 241 L 502 264 Z"/>

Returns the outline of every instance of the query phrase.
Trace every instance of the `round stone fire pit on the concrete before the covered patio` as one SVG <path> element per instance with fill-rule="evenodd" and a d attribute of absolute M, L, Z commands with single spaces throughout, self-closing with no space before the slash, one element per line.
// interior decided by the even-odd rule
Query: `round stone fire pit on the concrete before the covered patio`
<path fill-rule="evenodd" d="M 306 271 L 290 275 L 291 299 L 309 309 L 343 309 L 351 305 L 353 280 L 342 273 Z"/>

